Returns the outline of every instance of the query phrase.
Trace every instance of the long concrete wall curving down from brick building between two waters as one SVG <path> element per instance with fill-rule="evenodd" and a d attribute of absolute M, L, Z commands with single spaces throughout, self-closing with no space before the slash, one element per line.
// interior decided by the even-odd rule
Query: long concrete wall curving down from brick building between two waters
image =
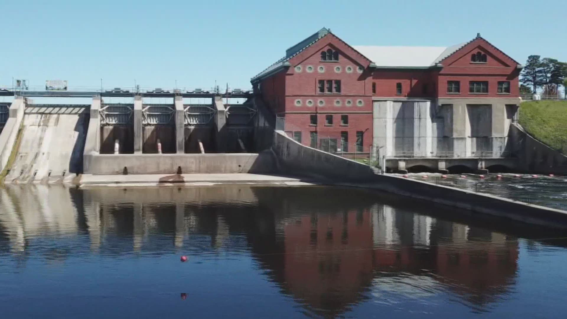
<path fill-rule="evenodd" d="M 274 134 L 272 149 L 281 174 L 319 178 L 329 184 L 374 188 L 462 209 L 455 213 L 483 213 L 524 223 L 567 228 L 567 211 L 392 175 L 377 175 L 367 165 L 301 145 L 281 131 Z"/>

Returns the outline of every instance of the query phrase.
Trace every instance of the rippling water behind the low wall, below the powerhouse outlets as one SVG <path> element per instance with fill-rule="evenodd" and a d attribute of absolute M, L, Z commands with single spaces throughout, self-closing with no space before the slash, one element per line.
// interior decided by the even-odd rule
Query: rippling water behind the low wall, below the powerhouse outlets
<path fill-rule="evenodd" d="M 423 178 L 424 175 L 428 178 Z M 502 177 L 498 178 L 497 175 L 502 175 Z M 408 176 L 434 184 L 567 210 L 567 177 L 563 176 L 538 175 L 538 177 L 532 177 L 532 175 L 520 174 L 517 177 L 517 174 L 488 174 L 484 179 L 475 174 L 464 174 L 466 178 L 460 178 L 459 174 L 450 174 L 446 175 L 447 178 L 441 178 L 441 174 L 431 173 L 414 173 Z"/>

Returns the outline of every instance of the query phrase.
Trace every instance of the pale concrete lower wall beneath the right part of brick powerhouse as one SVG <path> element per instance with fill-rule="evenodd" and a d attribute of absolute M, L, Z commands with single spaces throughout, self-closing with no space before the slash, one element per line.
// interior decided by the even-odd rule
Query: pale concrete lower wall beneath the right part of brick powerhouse
<path fill-rule="evenodd" d="M 373 144 L 390 170 L 515 169 L 508 136 L 518 104 L 517 98 L 375 101 Z"/>

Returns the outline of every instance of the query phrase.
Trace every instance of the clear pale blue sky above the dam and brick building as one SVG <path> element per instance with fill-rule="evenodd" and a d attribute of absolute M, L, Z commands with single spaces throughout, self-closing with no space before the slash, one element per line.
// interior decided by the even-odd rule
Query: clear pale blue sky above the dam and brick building
<path fill-rule="evenodd" d="M 249 87 L 321 27 L 351 45 L 448 46 L 477 32 L 522 64 L 567 60 L 564 10 L 528 1 L 7 2 L 0 86 Z"/>

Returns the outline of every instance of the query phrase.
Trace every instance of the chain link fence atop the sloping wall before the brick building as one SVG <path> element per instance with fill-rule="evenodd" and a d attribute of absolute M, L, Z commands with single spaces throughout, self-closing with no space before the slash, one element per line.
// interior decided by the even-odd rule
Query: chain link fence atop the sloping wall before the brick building
<path fill-rule="evenodd" d="M 326 125 L 325 128 L 331 125 Z M 320 133 L 317 126 L 301 128 L 291 123 L 286 123 L 284 117 L 276 118 L 276 131 L 284 132 L 287 137 L 301 143 L 304 146 L 318 149 L 323 152 L 352 159 L 359 163 L 379 168 L 380 156 L 374 148 L 369 145 L 372 137 L 364 131 L 351 131 L 349 127 L 341 127 L 336 132 Z"/>

